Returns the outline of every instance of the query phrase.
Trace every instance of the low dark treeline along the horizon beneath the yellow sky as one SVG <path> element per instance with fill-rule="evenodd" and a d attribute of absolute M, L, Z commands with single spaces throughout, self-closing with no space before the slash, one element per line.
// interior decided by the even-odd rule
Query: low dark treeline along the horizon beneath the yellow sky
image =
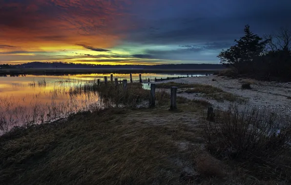
<path fill-rule="evenodd" d="M 2 69 L 223 69 L 221 64 L 98 65 L 65 62 L 29 62 L 0 65 Z"/>

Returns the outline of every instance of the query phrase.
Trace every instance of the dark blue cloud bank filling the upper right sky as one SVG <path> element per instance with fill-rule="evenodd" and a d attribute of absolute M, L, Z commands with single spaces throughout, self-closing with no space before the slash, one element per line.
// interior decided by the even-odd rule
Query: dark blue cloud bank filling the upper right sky
<path fill-rule="evenodd" d="M 290 25 L 291 18 L 290 0 L 159 0 L 153 4 L 154 8 L 144 7 L 150 11 L 148 17 L 136 18 L 141 29 L 128 40 L 145 44 L 230 41 L 241 36 L 246 24 L 264 34 Z"/>

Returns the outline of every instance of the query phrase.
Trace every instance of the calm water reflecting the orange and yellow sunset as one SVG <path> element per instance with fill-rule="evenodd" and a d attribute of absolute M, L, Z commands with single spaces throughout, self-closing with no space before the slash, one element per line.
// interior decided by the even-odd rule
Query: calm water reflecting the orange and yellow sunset
<path fill-rule="evenodd" d="M 193 74 L 202 75 L 205 74 Z M 91 111 L 102 107 L 97 92 L 72 95 L 70 90 L 92 80 L 103 80 L 104 76 L 110 81 L 110 74 L 0 77 L 0 130 L 7 131 L 14 126 L 29 123 L 44 123 L 78 111 Z M 144 81 L 148 78 L 154 80 L 177 76 L 187 74 L 142 74 Z M 134 81 L 139 81 L 139 74 L 132 74 L 132 77 Z M 129 74 L 113 74 L 113 78 L 129 80 Z M 144 87 L 147 88 L 147 83 Z"/>

